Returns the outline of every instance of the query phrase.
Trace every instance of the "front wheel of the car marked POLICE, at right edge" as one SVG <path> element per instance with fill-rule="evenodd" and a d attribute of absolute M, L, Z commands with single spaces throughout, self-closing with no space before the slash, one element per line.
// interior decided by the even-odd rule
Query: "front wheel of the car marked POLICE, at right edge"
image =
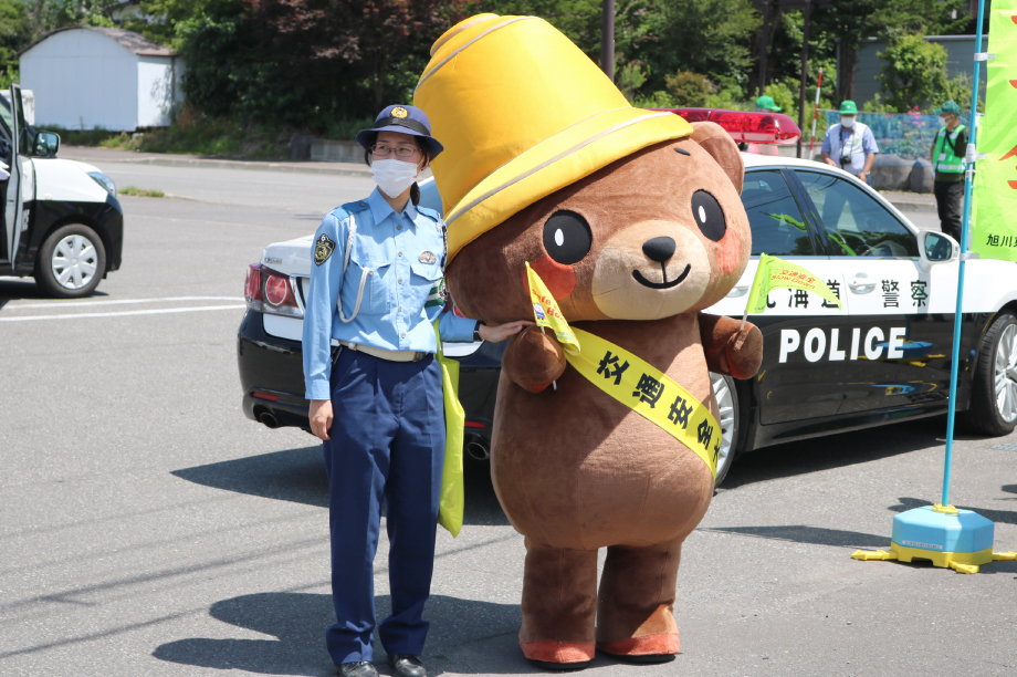
<path fill-rule="evenodd" d="M 1017 425 L 1017 317 L 1000 313 L 982 343 L 971 406 L 958 416 L 975 433 L 999 437 Z"/>

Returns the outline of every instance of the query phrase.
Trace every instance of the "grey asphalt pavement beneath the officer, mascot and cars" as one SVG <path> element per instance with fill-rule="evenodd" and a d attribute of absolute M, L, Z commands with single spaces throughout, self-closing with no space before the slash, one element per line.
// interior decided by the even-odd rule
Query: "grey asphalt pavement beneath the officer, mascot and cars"
<path fill-rule="evenodd" d="M 321 448 L 244 418 L 235 331 L 264 246 L 370 179 L 92 162 L 178 197 L 122 198 L 123 269 L 94 298 L 0 279 L 0 675 L 333 674 Z M 944 433 L 940 417 L 740 459 L 683 549 L 681 655 L 586 673 L 1013 674 L 1017 562 L 962 575 L 850 559 L 940 499 Z M 1015 461 L 1017 435 L 954 447 L 952 502 L 995 522 L 996 550 L 1017 550 Z M 539 673 L 518 648 L 523 556 L 470 466 L 463 531 L 438 538 L 432 675 Z M 382 543 L 379 616 L 386 562 Z"/>

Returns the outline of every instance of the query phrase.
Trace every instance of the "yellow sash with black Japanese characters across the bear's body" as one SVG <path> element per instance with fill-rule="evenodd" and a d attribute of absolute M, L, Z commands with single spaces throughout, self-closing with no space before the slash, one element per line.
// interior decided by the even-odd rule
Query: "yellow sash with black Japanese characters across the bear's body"
<path fill-rule="evenodd" d="M 598 388 L 670 433 L 703 459 L 716 478 L 721 425 L 689 390 L 610 341 L 573 327 L 581 348 L 568 364 Z"/>

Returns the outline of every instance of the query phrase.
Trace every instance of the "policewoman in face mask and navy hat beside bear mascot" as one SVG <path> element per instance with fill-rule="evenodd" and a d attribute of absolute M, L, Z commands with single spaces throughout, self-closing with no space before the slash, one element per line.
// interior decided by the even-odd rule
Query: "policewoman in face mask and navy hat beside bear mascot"
<path fill-rule="evenodd" d="M 400 677 L 423 677 L 444 409 L 438 343 L 502 341 L 527 322 L 485 326 L 442 312 L 444 225 L 416 184 L 442 150 L 413 106 L 388 106 L 357 135 L 378 188 L 325 217 L 314 237 L 304 378 L 329 481 L 336 624 L 325 633 L 344 677 L 375 677 L 373 561 L 387 504 L 391 616 L 381 645 Z M 338 343 L 336 348 L 332 347 Z"/>

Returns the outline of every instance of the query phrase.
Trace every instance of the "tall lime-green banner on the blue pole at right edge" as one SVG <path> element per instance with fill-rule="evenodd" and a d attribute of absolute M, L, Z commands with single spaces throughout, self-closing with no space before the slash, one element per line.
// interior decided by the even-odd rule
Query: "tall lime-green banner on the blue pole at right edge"
<path fill-rule="evenodd" d="M 972 192 L 971 249 L 984 259 L 1017 261 L 1017 0 L 993 0 L 988 88 L 978 125 Z"/>

